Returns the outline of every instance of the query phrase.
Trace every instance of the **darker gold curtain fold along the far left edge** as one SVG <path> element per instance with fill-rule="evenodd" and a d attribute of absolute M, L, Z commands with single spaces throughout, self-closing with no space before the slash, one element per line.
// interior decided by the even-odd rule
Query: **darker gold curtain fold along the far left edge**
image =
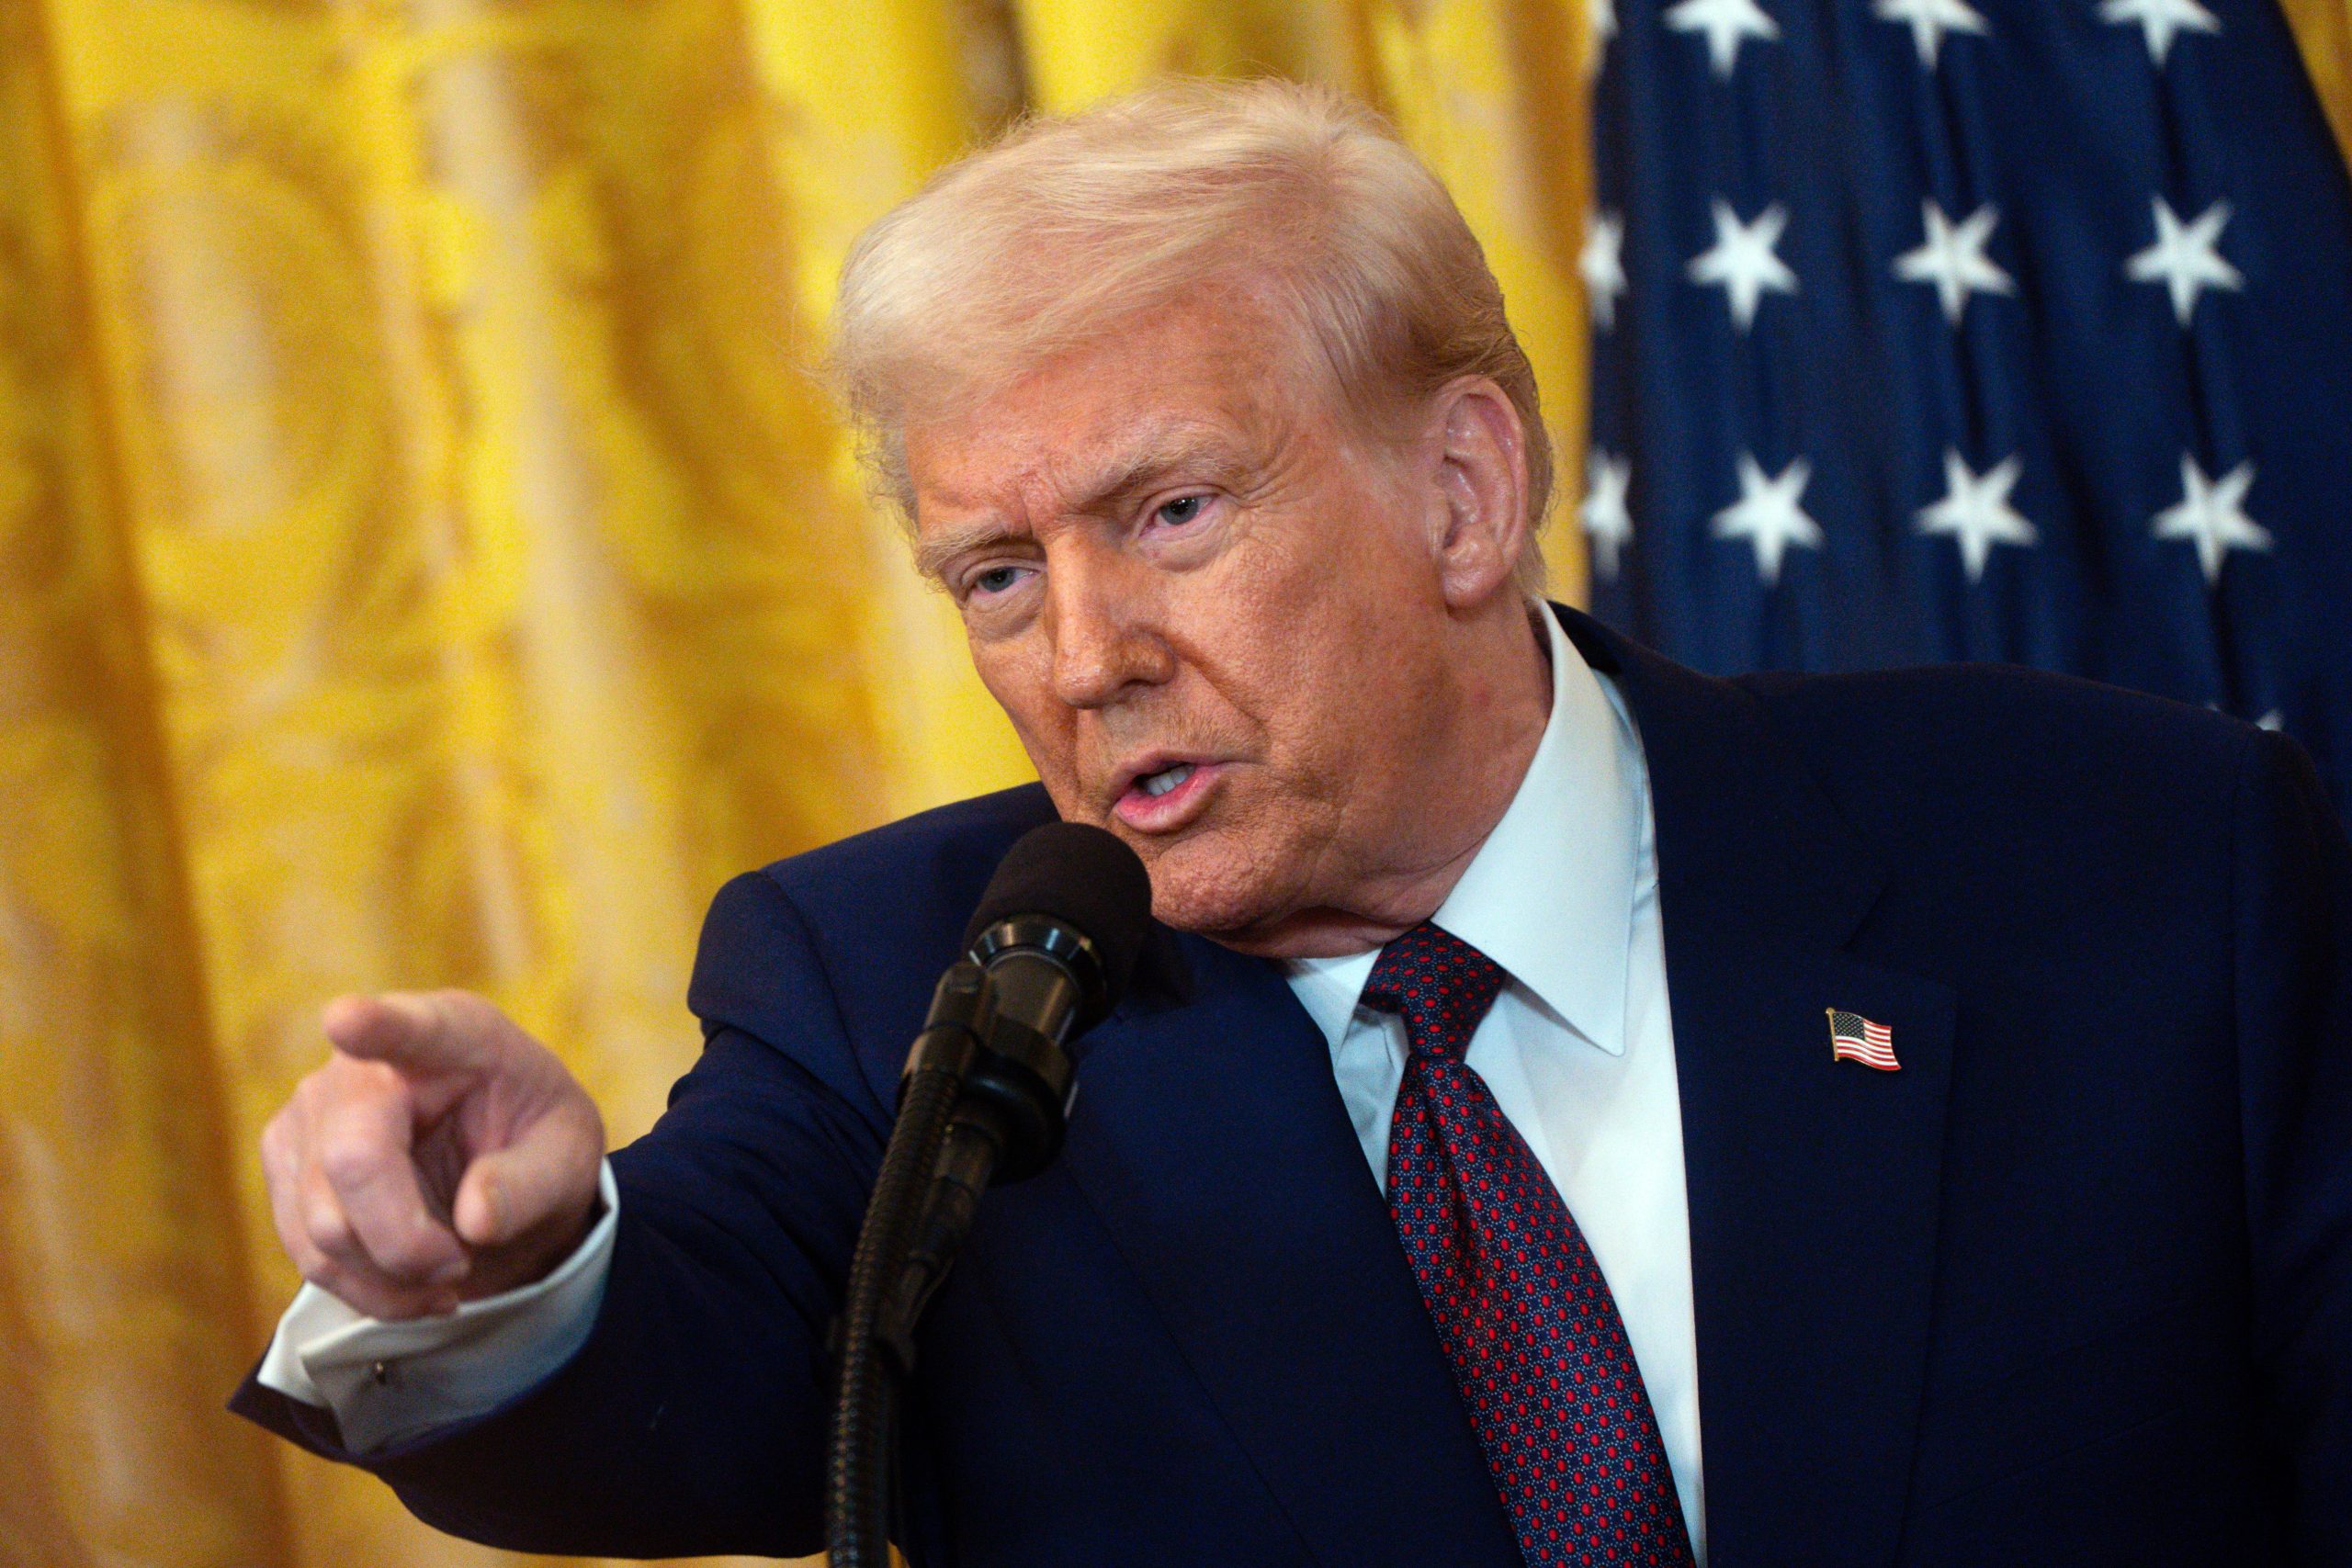
<path fill-rule="evenodd" d="M 0 0 L 0 1563 L 292 1561 L 45 19 Z"/>

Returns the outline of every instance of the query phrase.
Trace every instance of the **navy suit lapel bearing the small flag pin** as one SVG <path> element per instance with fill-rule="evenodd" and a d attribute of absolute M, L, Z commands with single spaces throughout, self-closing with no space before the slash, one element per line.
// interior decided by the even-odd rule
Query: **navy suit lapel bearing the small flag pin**
<path fill-rule="evenodd" d="M 1682 1086 L 1715 1568 L 1896 1552 L 1926 1366 L 1950 987 L 1844 943 L 1884 875 L 1743 689 L 1585 616 L 1642 731 Z M 1832 1060 L 1825 1009 L 1896 1072 Z"/>

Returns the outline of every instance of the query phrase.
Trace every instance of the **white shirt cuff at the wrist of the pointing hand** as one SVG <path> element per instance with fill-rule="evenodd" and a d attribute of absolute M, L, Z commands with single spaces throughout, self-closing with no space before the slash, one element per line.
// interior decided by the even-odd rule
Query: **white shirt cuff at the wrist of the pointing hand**
<path fill-rule="evenodd" d="M 555 1373 L 595 1328 L 621 1215 L 609 1159 L 597 1194 L 604 1215 L 560 1269 L 442 1316 L 372 1319 L 306 1284 L 278 1319 L 261 1385 L 334 1410 L 353 1453 L 499 1408 Z"/>

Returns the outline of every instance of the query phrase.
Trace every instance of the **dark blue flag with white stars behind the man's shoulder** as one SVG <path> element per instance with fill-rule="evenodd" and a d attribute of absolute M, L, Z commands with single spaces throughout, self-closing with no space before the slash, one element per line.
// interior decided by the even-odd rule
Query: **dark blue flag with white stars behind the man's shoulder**
<path fill-rule="evenodd" d="M 2352 816 L 2352 179 L 2277 0 L 1595 5 L 1595 609 L 2201 703 Z"/>

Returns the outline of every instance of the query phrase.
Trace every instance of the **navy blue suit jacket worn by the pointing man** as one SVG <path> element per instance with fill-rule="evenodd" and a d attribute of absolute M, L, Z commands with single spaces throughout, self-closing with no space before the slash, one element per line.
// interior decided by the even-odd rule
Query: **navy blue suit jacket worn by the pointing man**
<path fill-rule="evenodd" d="M 1562 614 L 1649 755 L 1715 1568 L 2352 1563 L 2352 849 L 2300 750 L 2016 670 L 1708 679 Z M 816 1552 L 898 1067 L 1049 813 L 727 884 L 588 1345 L 365 1465 L 506 1547 Z M 1322 1034 L 1272 964 L 1155 943 L 924 1321 L 910 1556 L 1517 1563 Z M 1903 1067 L 1835 1063 L 1830 1006 Z"/>

